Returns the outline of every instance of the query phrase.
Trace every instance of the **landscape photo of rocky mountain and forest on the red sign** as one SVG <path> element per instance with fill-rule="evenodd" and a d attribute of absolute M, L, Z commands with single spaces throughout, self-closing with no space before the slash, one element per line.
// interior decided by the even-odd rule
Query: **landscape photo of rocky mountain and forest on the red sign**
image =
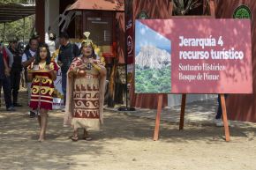
<path fill-rule="evenodd" d="M 136 21 L 135 92 L 169 93 L 171 42 Z"/>

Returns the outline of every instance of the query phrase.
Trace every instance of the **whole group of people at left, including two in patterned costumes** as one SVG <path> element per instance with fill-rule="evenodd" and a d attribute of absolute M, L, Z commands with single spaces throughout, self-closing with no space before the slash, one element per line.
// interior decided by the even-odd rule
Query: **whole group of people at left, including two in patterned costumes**
<path fill-rule="evenodd" d="M 106 69 L 95 55 L 92 41 L 85 40 L 81 48 L 69 41 L 68 33 L 60 33 L 57 62 L 51 55 L 56 50 L 56 36 L 49 33 L 45 41 L 34 34 L 25 49 L 18 40 L 9 40 L 9 46 L 0 48 L 0 89 L 4 89 L 7 111 L 23 107 L 19 102 L 19 84 L 24 72 L 28 94 L 29 116 L 37 117 L 40 132 L 38 141 L 45 139 L 48 112 L 53 105 L 54 81 L 61 70 L 64 92 L 64 126 L 73 128 L 72 141 L 77 141 L 78 129 L 84 129 L 84 139 L 91 140 L 90 129 L 99 129 L 102 123 Z M 12 98 L 11 98 L 12 96 Z"/>

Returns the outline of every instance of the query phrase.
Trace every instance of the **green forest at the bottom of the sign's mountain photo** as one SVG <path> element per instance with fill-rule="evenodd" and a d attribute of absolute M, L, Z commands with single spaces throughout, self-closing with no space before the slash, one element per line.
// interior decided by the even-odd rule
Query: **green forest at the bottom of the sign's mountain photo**
<path fill-rule="evenodd" d="M 135 66 L 135 92 L 169 93 L 171 89 L 169 66 L 161 70 Z"/>

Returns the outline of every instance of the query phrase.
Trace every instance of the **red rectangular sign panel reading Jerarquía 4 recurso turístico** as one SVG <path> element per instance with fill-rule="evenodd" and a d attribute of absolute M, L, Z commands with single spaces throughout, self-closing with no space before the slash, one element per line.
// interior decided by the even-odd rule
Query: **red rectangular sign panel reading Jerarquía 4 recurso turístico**
<path fill-rule="evenodd" d="M 135 92 L 252 93 L 251 21 L 136 20 Z"/>

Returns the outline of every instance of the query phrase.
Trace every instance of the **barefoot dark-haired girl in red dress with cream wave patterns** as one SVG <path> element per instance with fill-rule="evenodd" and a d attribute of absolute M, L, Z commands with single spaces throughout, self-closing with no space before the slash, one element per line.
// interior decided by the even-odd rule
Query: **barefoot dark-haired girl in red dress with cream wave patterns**
<path fill-rule="evenodd" d="M 52 109 L 54 80 L 58 66 L 51 62 L 49 47 L 41 44 L 37 49 L 35 61 L 28 67 L 27 77 L 32 80 L 31 100 L 29 107 L 38 110 L 38 122 L 40 125 L 40 135 L 38 141 L 42 142 L 45 137 L 47 127 L 47 114 Z"/>

